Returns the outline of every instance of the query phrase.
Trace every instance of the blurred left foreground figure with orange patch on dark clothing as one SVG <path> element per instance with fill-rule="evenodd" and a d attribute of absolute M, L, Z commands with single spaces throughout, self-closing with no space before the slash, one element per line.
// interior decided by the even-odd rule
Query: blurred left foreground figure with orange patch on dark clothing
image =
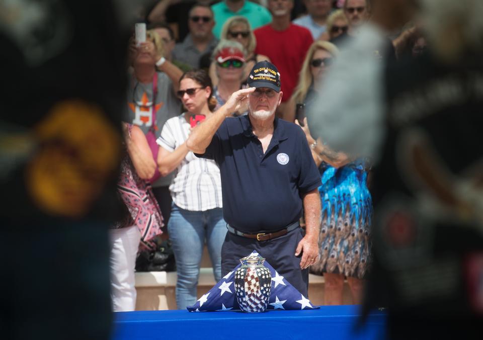
<path fill-rule="evenodd" d="M 114 8 L 22 1 L 2 2 L 0 12 L 8 82 L 0 100 L 0 336 L 108 339 L 108 226 L 119 211 L 126 84 Z"/>

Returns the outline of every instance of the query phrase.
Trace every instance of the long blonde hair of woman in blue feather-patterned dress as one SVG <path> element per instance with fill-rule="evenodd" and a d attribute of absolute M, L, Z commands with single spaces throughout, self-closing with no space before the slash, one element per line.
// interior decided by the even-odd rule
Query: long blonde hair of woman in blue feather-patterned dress
<path fill-rule="evenodd" d="M 295 103 L 302 103 L 304 101 L 308 88 L 310 88 L 310 85 L 312 84 L 313 79 L 312 73 L 310 72 L 310 61 L 312 60 L 316 50 L 326 50 L 334 57 L 339 55 L 339 49 L 337 46 L 328 41 L 316 40 L 312 45 L 310 45 L 310 48 L 305 55 L 302 69 L 300 70 L 297 87 L 292 95 L 292 99 L 295 101 Z"/>

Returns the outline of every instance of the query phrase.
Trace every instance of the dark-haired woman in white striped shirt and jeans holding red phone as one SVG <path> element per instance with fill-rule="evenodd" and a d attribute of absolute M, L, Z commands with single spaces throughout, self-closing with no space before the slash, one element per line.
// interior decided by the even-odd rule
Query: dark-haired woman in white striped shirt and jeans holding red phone
<path fill-rule="evenodd" d="M 175 253 L 179 309 L 196 302 L 196 287 L 205 241 L 215 281 L 221 279 L 221 245 L 226 234 L 222 216 L 220 170 L 215 161 L 196 157 L 186 147 L 190 130 L 209 118 L 216 106 L 211 79 L 204 70 L 181 77 L 178 97 L 186 111 L 169 119 L 157 139 L 161 175 L 175 172 L 170 185 L 173 199 L 168 232 Z"/>

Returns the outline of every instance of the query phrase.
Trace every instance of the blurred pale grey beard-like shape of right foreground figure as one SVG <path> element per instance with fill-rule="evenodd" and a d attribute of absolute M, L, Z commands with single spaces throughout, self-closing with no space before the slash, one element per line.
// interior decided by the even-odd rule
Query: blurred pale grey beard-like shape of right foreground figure
<path fill-rule="evenodd" d="M 372 17 L 346 39 L 321 80 L 320 96 L 307 111 L 313 137 L 334 150 L 378 158 L 382 131 L 382 73 L 395 59 L 387 35 L 412 19 L 415 0 L 374 0 Z M 342 38 L 342 35 L 339 36 Z"/>

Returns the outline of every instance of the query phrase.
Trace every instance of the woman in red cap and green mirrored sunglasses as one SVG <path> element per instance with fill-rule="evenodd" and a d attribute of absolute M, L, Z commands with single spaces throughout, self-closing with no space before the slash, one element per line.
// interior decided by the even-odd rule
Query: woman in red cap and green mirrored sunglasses
<path fill-rule="evenodd" d="M 215 109 L 218 109 L 233 92 L 243 88 L 245 49 L 236 41 L 221 40 L 213 51 L 213 60 L 218 76 L 218 85 L 213 88 L 213 96 L 218 103 Z M 233 113 L 233 116 L 238 115 L 239 113 Z"/>

